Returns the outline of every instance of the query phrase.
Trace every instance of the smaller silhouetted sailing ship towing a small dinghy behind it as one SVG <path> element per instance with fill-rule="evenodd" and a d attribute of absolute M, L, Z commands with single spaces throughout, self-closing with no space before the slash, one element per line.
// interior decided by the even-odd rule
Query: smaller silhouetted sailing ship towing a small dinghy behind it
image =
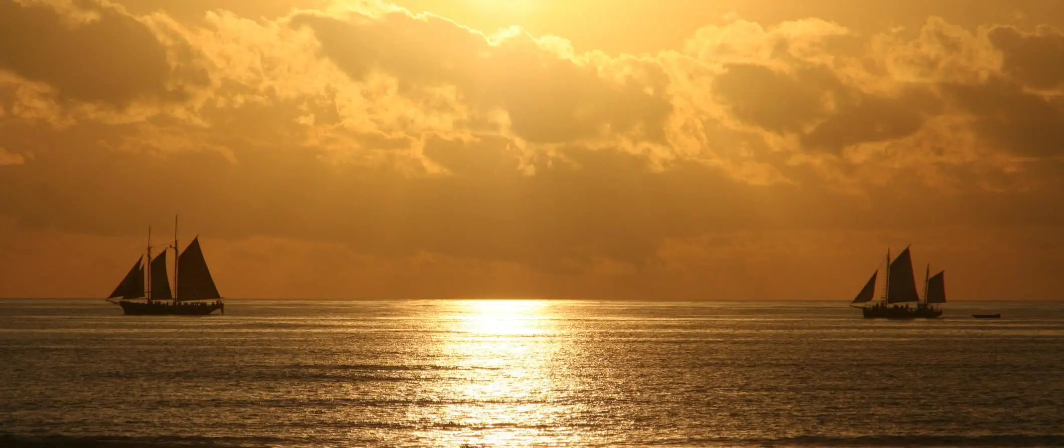
<path fill-rule="evenodd" d="M 876 297 L 876 277 L 879 270 L 876 270 L 868 278 L 858 296 L 851 304 L 863 304 L 861 306 L 850 305 L 861 308 L 865 317 L 886 317 L 886 318 L 934 318 L 942 315 L 942 309 L 935 308 L 935 304 L 946 303 L 946 280 L 945 271 L 941 271 L 934 276 L 931 275 L 931 265 L 928 264 L 924 277 L 924 299 L 916 292 L 916 278 L 913 275 L 913 260 L 909 254 L 909 247 L 891 261 L 891 251 L 886 251 L 886 268 L 884 272 L 883 295 L 881 300 L 868 306 Z M 909 304 L 916 303 L 916 307 Z"/>

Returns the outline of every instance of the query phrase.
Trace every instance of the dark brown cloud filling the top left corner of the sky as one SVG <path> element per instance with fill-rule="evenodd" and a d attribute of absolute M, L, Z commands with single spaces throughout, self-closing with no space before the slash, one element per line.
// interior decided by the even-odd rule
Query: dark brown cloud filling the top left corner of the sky
<path fill-rule="evenodd" d="M 167 48 L 144 23 L 95 1 L 76 4 L 97 18 L 85 22 L 50 5 L 0 0 L 0 69 L 47 83 L 65 99 L 123 106 L 181 98 L 168 85 Z M 202 72 L 192 74 L 203 82 Z"/>

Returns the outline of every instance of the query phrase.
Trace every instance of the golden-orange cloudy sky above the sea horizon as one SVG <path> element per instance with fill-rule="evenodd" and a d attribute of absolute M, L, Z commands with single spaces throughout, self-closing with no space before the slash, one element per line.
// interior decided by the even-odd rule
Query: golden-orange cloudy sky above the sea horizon
<path fill-rule="evenodd" d="M 0 297 L 1064 297 L 1058 0 L 0 0 Z"/>

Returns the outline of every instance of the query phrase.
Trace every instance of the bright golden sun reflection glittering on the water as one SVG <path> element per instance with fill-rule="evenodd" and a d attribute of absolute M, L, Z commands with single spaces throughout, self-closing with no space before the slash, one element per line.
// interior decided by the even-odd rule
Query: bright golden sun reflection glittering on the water
<path fill-rule="evenodd" d="M 443 430 L 425 434 L 448 446 L 523 446 L 575 442 L 556 433 L 559 329 L 543 300 L 460 300 L 447 305 L 440 356 L 459 369 L 438 384 L 452 397 L 428 417 Z M 564 441 L 561 437 L 565 437 Z"/>

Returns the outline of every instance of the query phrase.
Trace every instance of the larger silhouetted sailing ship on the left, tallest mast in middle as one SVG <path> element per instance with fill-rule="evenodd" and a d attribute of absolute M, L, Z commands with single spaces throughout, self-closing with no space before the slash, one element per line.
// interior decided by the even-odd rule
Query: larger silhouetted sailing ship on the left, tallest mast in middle
<path fill-rule="evenodd" d="M 199 237 L 178 254 L 178 220 L 173 220 L 173 245 L 166 246 L 152 258 L 151 227 L 148 227 L 148 254 L 151 260 L 145 270 L 140 256 L 107 301 L 122 307 L 126 314 L 139 315 L 206 315 L 215 310 L 226 313 L 218 288 L 206 266 Z M 173 249 L 173 289 L 167 278 L 166 254 Z M 178 274 L 180 273 L 180 277 Z M 172 291 L 172 293 L 171 293 Z"/>

